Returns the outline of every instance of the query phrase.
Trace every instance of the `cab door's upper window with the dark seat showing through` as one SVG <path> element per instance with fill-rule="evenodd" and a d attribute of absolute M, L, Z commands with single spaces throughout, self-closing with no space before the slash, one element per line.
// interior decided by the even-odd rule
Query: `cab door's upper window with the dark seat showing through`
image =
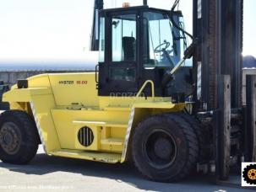
<path fill-rule="evenodd" d="M 112 17 L 112 61 L 136 61 L 136 14 Z"/>

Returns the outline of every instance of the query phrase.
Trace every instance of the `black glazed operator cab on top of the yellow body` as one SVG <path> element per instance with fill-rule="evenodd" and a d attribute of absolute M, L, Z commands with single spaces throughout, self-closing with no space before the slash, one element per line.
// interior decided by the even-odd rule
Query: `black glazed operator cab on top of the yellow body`
<path fill-rule="evenodd" d="M 165 72 L 177 65 L 187 48 L 170 14 L 148 6 L 101 10 L 99 96 L 134 96 L 147 80 L 154 82 L 155 96 L 189 92 L 190 67 L 182 67 L 171 83 L 161 85 Z M 172 17 L 183 27 L 181 12 Z M 150 86 L 144 89 L 144 96 L 151 94 Z"/>

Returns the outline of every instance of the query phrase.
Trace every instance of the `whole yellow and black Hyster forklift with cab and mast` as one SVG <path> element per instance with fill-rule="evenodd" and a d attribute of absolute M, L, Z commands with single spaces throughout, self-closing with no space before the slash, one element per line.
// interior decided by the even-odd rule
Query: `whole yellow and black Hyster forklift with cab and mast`
<path fill-rule="evenodd" d="M 161 182 L 196 169 L 228 179 L 231 165 L 255 160 L 255 77 L 247 107 L 237 99 L 242 1 L 193 2 L 189 46 L 178 1 L 171 12 L 146 1 L 101 10 L 95 72 L 42 74 L 3 94 L 11 109 L 0 116 L 0 159 L 29 163 L 42 144 L 52 156 L 133 161 Z M 193 67 L 184 64 L 191 56 Z"/>

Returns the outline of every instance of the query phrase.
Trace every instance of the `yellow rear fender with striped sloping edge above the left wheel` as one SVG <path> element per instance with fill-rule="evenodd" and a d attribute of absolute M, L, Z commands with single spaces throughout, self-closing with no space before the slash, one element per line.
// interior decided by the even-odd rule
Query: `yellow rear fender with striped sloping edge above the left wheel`
<path fill-rule="evenodd" d="M 52 120 L 51 109 L 55 106 L 52 88 L 17 88 L 3 94 L 3 101 L 9 102 L 11 109 L 19 109 L 19 104 L 28 105 L 45 152 L 60 148 L 57 132 Z M 22 109 L 22 107 L 20 107 Z M 23 109 L 26 110 L 26 109 Z"/>

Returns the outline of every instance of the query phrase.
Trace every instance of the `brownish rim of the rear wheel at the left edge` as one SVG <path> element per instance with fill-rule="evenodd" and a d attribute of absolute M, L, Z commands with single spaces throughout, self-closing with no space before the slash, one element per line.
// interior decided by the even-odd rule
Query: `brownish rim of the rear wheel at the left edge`
<path fill-rule="evenodd" d="M 0 146 L 4 152 L 14 155 L 19 151 L 21 133 L 13 122 L 4 123 L 0 131 Z"/>

